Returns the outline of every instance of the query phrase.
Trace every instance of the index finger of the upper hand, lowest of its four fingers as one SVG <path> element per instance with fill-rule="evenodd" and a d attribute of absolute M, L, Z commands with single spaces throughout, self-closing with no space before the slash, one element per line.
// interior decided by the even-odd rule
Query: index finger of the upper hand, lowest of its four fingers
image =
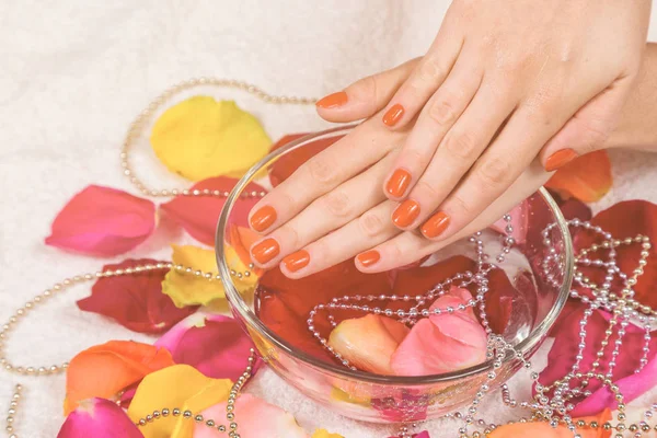
<path fill-rule="evenodd" d="M 520 106 L 499 136 L 472 166 L 468 175 L 450 193 L 437 212 L 420 227 L 425 238 L 442 240 L 461 230 L 499 197 L 522 170 L 532 162 L 538 152 L 570 117 L 562 114 L 551 118 L 548 105 L 535 111 Z"/>

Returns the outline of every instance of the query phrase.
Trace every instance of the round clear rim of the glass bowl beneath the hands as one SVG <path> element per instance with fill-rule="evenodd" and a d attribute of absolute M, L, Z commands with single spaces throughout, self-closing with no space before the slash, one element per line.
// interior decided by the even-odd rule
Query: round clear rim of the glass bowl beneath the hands
<path fill-rule="evenodd" d="M 310 140 L 316 139 L 318 137 L 323 137 L 327 135 L 336 135 L 342 131 L 350 131 L 358 125 L 342 125 L 335 128 L 325 129 L 321 131 L 315 131 L 308 134 L 301 138 L 295 139 L 289 143 L 272 151 L 265 158 L 260 160 L 253 168 L 251 168 L 244 176 L 235 184 L 234 188 L 231 191 L 230 195 L 226 199 L 226 204 L 221 210 L 219 216 L 219 221 L 217 223 L 217 232 L 215 234 L 215 255 L 217 258 L 217 265 L 219 267 L 219 274 L 221 276 L 221 283 L 223 284 L 223 288 L 226 291 L 226 297 L 228 298 L 228 302 L 233 312 L 238 312 L 241 318 L 245 321 L 245 324 L 251 328 L 254 328 L 260 333 L 260 335 L 264 336 L 266 341 L 277 348 L 280 348 L 286 354 L 295 357 L 296 359 L 301 360 L 302 362 L 319 368 L 322 371 L 328 372 L 334 376 L 338 376 L 345 379 L 358 380 L 361 382 L 373 383 L 373 384 L 394 384 L 394 385 L 426 385 L 431 383 L 443 383 L 450 382 L 453 380 L 459 380 L 462 378 L 471 377 L 474 374 L 480 374 L 484 371 L 488 371 L 493 369 L 493 359 L 487 360 L 485 362 L 458 370 L 451 372 L 445 372 L 440 374 L 428 374 L 428 376 L 383 376 L 383 374 L 374 374 L 360 370 L 351 370 L 346 367 L 339 367 L 338 365 L 328 364 L 326 361 L 316 359 L 302 350 L 299 350 L 291 345 L 289 345 L 285 339 L 280 338 L 273 331 L 270 331 L 250 309 L 246 301 L 242 298 L 241 293 L 234 287 L 230 268 L 227 266 L 226 260 L 223 257 L 223 235 L 226 231 L 226 224 L 228 222 L 228 218 L 232 208 L 234 206 L 235 200 L 239 198 L 240 193 L 244 189 L 244 187 L 249 184 L 250 180 L 262 169 L 267 165 L 272 160 L 284 155 L 291 149 L 299 147 Z M 566 269 L 565 269 L 565 278 L 566 280 L 562 285 L 558 297 L 556 299 L 555 304 L 548 312 L 545 318 L 530 332 L 529 336 L 520 342 L 516 346 L 516 350 L 519 350 L 523 354 L 523 356 L 531 351 L 537 344 L 539 344 L 546 335 L 556 321 L 556 318 L 561 313 L 564 308 L 566 300 L 569 295 L 570 285 L 573 281 L 573 269 L 574 269 L 574 258 L 573 258 L 573 242 L 570 239 L 570 233 L 568 230 L 568 226 L 561 212 L 561 209 L 556 205 L 555 200 L 548 193 L 544 187 L 540 187 L 538 193 L 542 196 L 542 198 L 548 204 L 549 208 L 554 214 L 556 218 L 556 224 L 560 229 L 561 233 L 564 235 L 564 250 L 566 255 Z M 512 351 L 507 351 L 505 358 L 503 359 L 503 364 L 507 364 L 510 360 L 514 360 L 516 355 Z"/>

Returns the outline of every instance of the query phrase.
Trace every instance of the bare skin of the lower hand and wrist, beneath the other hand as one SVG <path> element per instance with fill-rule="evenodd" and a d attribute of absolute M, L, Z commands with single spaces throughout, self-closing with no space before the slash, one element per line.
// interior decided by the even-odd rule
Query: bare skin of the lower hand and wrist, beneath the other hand
<path fill-rule="evenodd" d="M 440 240 L 429 240 L 417 230 L 395 227 L 391 215 L 399 201 L 389 199 L 381 191 L 391 166 L 404 152 L 405 147 L 400 148 L 400 145 L 407 145 L 419 123 L 418 119 L 415 124 L 390 129 L 381 123 L 381 117 L 388 102 L 413 74 L 419 60 L 378 76 L 376 88 L 372 79 L 358 82 L 347 89 L 355 110 L 350 110 L 349 117 L 343 114 L 344 120 L 368 113 L 373 115 L 302 165 L 255 206 L 253 211 L 263 206 L 276 209 L 276 220 L 263 234 L 278 242 L 280 253 L 267 263 L 254 262 L 265 268 L 280 263 L 285 275 L 300 278 L 374 249 L 380 260 L 364 266 L 357 257 L 355 263 L 360 270 L 374 273 L 403 266 L 489 226 L 534 193 L 551 176 L 544 170 L 544 154 L 550 148 L 558 147 L 555 139 L 563 132 L 568 132 L 569 146 L 581 153 L 603 148 L 657 151 L 657 105 L 654 104 L 657 102 L 657 45 L 644 44 L 641 53 L 644 61 L 635 74 L 636 87 L 616 112 L 620 120 L 614 130 L 602 137 L 597 129 L 568 129 L 569 126 L 585 126 L 583 120 L 588 117 L 601 120 L 608 114 L 606 105 L 596 104 L 586 112 L 576 113 L 556 136 L 546 140 L 543 152 L 533 157 L 502 195 L 487 200 L 474 219 Z M 320 114 L 327 118 L 324 111 Z M 500 137 L 502 134 L 494 136 L 491 145 Z M 354 153 L 355 149 L 359 153 Z M 301 249 L 308 252 L 309 263 L 298 270 L 288 269 L 281 261 Z"/>

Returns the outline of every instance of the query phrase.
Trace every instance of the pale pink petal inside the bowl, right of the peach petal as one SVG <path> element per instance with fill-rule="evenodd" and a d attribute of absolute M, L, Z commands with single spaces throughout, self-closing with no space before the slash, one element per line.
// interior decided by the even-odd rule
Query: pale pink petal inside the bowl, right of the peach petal
<path fill-rule="evenodd" d="M 452 287 L 431 306 L 446 309 L 464 304 L 470 291 Z M 392 355 L 391 367 L 399 376 L 451 372 L 485 360 L 486 332 L 471 308 L 433 314 L 420 320 Z"/>

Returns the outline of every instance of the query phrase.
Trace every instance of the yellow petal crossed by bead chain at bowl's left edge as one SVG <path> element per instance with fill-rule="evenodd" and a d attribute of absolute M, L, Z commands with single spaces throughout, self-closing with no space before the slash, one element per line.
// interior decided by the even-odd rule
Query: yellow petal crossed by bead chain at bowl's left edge
<path fill-rule="evenodd" d="M 171 247 L 173 249 L 172 261 L 174 264 L 193 266 L 203 273 L 218 275 L 215 251 L 192 245 L 171 245 Z M 237 272 L 247 269 L 232 246 L 227 246 L 224 255 L 232 269 Z M 233 284 L 239 290 L 245 292 L 257 284 L 257 275 L 233 277 Z M 218 310 L 223 310 L 226 307 L 226 293 L 221 281 L 208 281 L 204 277 L 180 273 L 175 269 L 170 270 L 164 277 L 162 292 L 171 297 L 177 307 L 200 304 Z"/>

